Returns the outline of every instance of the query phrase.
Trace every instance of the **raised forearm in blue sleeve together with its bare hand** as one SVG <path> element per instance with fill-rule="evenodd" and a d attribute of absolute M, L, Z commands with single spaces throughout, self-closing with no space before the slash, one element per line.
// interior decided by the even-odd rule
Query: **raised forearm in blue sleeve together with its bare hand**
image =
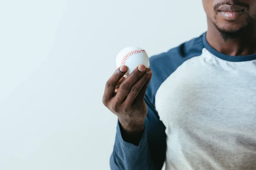
<path fill-rule="evenodd" d="M 103 104 L 119 120 L 111 169 L 160 170 L 165 160 L 166 137 L 151 102 L 154 95 L 147 90 L 152 72 L 139 65 L 125 79 L 127 70 L 125 65 L 116 69 L 106 83 L 102 98 Z"/>

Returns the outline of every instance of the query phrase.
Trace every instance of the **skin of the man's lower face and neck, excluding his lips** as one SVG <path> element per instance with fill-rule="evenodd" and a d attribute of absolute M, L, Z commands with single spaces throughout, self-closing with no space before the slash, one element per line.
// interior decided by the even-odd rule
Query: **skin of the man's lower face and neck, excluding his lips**
<path fill-rule="evenodd" d="M 220 4 L 241 4 L 243 14 L 236 20 L 226 20 L 215 6 Z M 207 41 L 217 51 L 230 56 L 242 56 L 256 53 L 256 1 L 255 0 L 203 0 L 207 14 Z M 249 20 L 250 18 L 250 20 Z M 216 26 L 234 33 L 242 30 L 235 38 L 224 40 Z"/>

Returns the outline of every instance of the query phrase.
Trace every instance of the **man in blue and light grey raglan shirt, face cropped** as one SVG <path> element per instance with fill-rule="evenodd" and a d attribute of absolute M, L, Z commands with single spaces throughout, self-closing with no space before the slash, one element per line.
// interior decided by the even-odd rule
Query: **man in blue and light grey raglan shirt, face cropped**
<path fill-rule="evenodd" d="M 256 1 L 203 5 L 207 33 L 108 80 L 112 170 L 256 170 Z"/>

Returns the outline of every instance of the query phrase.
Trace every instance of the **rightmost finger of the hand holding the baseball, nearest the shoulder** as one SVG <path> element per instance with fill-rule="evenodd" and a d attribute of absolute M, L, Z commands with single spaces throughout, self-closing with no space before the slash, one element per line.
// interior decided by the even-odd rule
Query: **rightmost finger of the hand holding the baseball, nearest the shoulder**
<path fill-rule="evenodd" d="M 128 96 L 125 99 L 125 103 L 133 103 L 138 94 L 145 94 L 145 91 L 148 87 L 148 83 L 150 82 L 150 80 L 148 81 L 148 79 L 151 77 L 151 73 L 152 72 L 150 68 L 147 68 L 143 76 L 131 88 L 131 91 L 129 92 Z"/>

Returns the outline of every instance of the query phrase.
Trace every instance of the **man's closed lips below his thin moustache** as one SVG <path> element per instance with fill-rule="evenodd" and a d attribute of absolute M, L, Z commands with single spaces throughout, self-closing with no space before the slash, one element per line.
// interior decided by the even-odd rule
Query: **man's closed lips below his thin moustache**
<path fill-rule="evenodd" d="M 223 5 L 218 8 L 225 20 L 234 21 L 246 11 L 246 7 L 239 5 Z"/>

